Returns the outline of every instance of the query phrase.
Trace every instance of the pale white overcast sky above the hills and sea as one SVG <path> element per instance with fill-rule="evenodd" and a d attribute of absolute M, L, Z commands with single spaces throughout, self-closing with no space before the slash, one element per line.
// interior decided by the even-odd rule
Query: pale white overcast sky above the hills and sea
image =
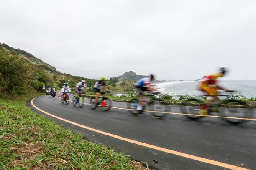
<path fill-rule="evenodd" d="M 88 78 L 256 80 L 256 1 L 3 0 L 0 42 Z"/>

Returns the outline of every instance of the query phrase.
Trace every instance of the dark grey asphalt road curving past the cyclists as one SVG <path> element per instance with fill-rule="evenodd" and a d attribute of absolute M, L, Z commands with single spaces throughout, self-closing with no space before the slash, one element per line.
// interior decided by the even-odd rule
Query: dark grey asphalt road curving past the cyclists
<path fill-rule="evenodd" d="M 250 112 L 255 120 L 231 125 L 218 117 L 191 121 L 182 115 L 168 114 L 162 120 L 148 112 L 133 116 L 128 110 L 117 108 L 108 112 L 101 108 L 91 110 L 90 105 L 80 108 L 72 102 L 62 104 L 58 97 L 50 95 L 35 98 L 32 103 L 28 101 L 28 106 L 38 114 L 84 133 L 87 140 L 111 146 L 134 160 L 146 161 L 151 168 L 226 170 L 243 164 L 236 170 L 256 170 L 255 110 Z M 126 103 L 112 105 L 126 108 Z M 170 112 L 179 113 L 179 109 L 173 106 Z"/>

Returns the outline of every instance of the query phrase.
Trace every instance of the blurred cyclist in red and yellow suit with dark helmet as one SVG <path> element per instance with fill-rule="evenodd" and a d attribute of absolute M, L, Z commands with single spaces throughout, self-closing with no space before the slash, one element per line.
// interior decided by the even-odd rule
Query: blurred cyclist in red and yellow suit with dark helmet
<path fill-rule="evenodd" d="M 207 108 L 211 105 L 211 103 L 218 100 L 218 90 L 225 90 L 228 92 L 231 92 L 233 90 L 228 90 L 223 87 L 220 87 L 217 83 L 217 79 L 219 77 L 223 77 L 227 73 L 227 69 L 222 67 L 219 69 L 219 72 L 216 74 L 208 75 L 203 77 L 203 81 L 200 84 L 200 90 L 205 92 L 207 95 L 212 97 L 211 100 L 209 100 L 205 105 L 202 105 L 200 107 L 200 115 L 207 115 Z"/>

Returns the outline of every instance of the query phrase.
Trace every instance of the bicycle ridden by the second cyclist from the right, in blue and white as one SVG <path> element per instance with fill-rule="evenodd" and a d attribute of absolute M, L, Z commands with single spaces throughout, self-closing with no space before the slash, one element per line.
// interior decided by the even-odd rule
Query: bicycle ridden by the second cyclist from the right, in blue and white
<path fill-rule="evenodd" d="M 143 112 L 150 112 L 152 116 L 156 118 L 164 118 L 168 115 L 169 106 L 164 105 L 163 100 L 156 97 L 159 92 L 151 93 L 149 95 L 145 94 L 146 100 L 143 101 L 142 110 L 137 110 L 140 98 L 133 98 L 127 104 L 127 109 L 132 115 L 143 114 Z M 146 110 L 148 108 L 148 110 Z"/>

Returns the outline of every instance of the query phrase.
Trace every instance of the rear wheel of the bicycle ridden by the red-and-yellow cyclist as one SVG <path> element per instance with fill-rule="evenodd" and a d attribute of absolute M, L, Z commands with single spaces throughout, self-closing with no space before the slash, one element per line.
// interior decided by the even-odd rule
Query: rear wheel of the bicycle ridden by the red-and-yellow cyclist
<path fill-rule="evenodd" d="M 184 116 L 188 117 L 189 119 L 196 120 L 201 118 L 200 115 L 200 106 L 202 106 L 204 103 L 201 100 L 198 99 L 189 99 L 186 100 L 187 104 L 192 106 L 181 106 L 180 112 L 184 113 Z"/>

